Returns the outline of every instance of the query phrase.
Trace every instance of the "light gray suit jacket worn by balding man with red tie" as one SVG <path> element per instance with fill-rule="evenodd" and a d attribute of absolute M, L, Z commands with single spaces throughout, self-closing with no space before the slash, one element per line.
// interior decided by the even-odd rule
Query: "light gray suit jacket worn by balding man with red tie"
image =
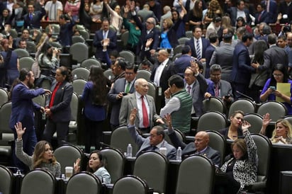
<path fill-rule="evenodd" d="M 146 95 L 147 102 L 149 105 L 149 125 L 150 128 L 154 126 L 155 120 L 157 120 L 159 115 L 156 113 L 156 108 L 155 108 L 155 101 L 152 96 Z M 133 108 L 137 109 L 137 99 L 135 93 L 132 93 L 128 96 L 123 97 L 122 103 L 120 105 L 120 125 L 127 125 L 129 123 L 129 118 L 130 118 L 130 113 Z M 139 114 L 137 112 L 137 114 Z M 139 116 L 137 115 L 135 119 L 135 126 L 139 126 L 140 121 L 139 121 Z"/>

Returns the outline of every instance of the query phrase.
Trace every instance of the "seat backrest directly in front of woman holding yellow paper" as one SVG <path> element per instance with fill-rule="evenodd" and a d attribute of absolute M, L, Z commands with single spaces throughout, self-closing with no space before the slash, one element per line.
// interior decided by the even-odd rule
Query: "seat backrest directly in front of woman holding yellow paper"
<path fill-rule="evenodd" d="M 268 101 L 262 103 L 257 109 L 259 115 L 264 115 L 266 113 L 270 114 L 271 121 L 276 122 L 279 118 L 283 118 L 287 115 L 287 108 L 285 105 L 275 101 Z"/>

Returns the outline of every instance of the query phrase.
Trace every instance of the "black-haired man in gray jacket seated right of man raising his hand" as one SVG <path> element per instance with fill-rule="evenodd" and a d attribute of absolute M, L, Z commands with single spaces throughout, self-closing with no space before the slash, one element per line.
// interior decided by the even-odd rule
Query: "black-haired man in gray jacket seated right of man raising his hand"
<path fill-rule="evenodd" d="M 210 67 L 210 80 L 214 83 L 215 97 L 220 98 L 226 105 L 234 101 L 232 87 L 228 81 L 221 79 L 221 67 L 219 64 L 212 64 Z"/>

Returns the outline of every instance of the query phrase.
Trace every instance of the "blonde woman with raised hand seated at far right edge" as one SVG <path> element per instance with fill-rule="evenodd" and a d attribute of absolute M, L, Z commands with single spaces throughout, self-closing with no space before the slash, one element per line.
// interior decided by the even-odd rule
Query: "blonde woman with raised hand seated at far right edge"
<path fill-rule="evenodd" d="M 260 134 L 266 135 L 266 127 L 271 122 L 269 113 L 266 113 L 263 118 L 262 129 Z M 271 136 L 273 144 L 292 144 L 292 125 L 288 120 L 280 119 L 275 123 L 275 129 Z"/>

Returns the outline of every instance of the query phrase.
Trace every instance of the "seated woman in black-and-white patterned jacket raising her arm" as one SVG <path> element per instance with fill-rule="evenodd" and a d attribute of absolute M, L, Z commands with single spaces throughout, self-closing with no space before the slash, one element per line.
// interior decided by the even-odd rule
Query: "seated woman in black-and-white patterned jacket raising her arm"
<path fill-rule="evenodd" d="M 248 131 L 250 126 L 247 121 L 242 123 L 245 139 L 236 139 L 231 144 L 232 154 L 226 156 L 225 163 L 220 168 L 229 179 L 223 186 L 224 193 L 238 193 L 257 181 L 257 146 Z"/>

